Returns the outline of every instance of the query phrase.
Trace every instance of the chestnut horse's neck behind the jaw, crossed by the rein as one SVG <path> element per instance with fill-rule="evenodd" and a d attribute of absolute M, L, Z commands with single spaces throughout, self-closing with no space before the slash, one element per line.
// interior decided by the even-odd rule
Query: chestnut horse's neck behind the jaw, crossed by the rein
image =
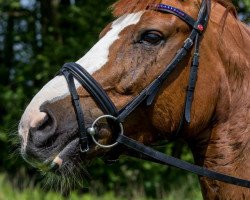
<path fill-rule="evenodd" d="M 192 144 L 192 149 L 198 164 L 249 180 L 250 30 L 231 15 L 223 26 L 224 12 L 221 5 L 214 6 L 210 21 L 217 24 L 213 37 L 218 44 L 216 67 L 220 71 L 215 116 L 209 128 Z M 249 189 L 206 178 L 200 181 L 206 199 L 250 199 Z"/>

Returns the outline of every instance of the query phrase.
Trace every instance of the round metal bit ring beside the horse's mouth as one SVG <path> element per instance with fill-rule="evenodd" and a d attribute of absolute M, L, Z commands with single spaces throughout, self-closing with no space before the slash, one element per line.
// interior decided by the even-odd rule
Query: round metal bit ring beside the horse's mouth
<path fill-rule="evenodd" d="M 91 137 L 92 137 L 94 143 L 95 143 L 97 146 L 100 146 L 100 147 L 102 147 L 102 148 L 112 148 L 112 147 L 116 146 L 116 145 L 118 144 L 118 142 L 115 142 L 114 144 L 110 144 L 110 145 L 104 145 L 104 144 L 100 144 L 99 142 L 97 142 L 96 139 L 95 139 L 95 137 L 94 137 L 95 134 L 96 134 L 96 132 L 95 132 L 95 127 L 94 127 L 94 126 L 96 125 L 96 123 L 97 123 L 100 119 L 103 119 L 103 118 L 109 118 L 109 119 L 112 119 L 112 120 L 114 120 L 114 121 L 117 120 L 117 118 L 114 117 L 114 116 L 112 116 L 112 115 L 102 115 L 102 116 L 98 117 L 98 118 L 93 122 L 93 124 L 91 125 L 91 127 L 88 128 L 88 133 L 91 135 Z M 120 135 L 123 135 L 123 125 L 122 125 L 122 123 L 119 123 L 119 126 L 120 126 L 120 129 L 121 129 Z"/>

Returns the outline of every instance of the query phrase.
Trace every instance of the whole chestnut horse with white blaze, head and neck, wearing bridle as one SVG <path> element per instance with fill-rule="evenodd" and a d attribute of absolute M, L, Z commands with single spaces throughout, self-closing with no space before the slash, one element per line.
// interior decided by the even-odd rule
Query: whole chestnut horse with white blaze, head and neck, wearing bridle
<path fill-rule="evenodd" d="M 23 158 L 63 173 L 132 154 L 121 135 L 143 145 L 181 138 L 197 165 L 249 180 L 250 29 L 231 1 L 119 0 L 112 8 L 116 19 L 100 40 L 27 106 Z M 250 198 L 249 188 L 199 181 L 204 199 Z"/>

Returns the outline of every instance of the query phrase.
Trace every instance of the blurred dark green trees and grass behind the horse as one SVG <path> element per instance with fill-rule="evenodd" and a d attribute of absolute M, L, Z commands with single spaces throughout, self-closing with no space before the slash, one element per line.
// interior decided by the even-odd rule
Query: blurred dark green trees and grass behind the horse
<path fill-rule="evenodd" d="M 112 20 L 114 0 L 0 0 L 0 200 L 28 199 L 201 199 L 193 174 L 122 158 L 113 166 L 92 163 L 82 187 L 68 193 L 47 186 L 26 164 L 16 141 L 18 121 L 32 96 L 63 63 L 76 61 Z M 250 1 L 234 1 L 250 22 Z M 182 142 L 161 148 L 192 162 Z M 62 190 L 62 191 L 60 191 Z"/>

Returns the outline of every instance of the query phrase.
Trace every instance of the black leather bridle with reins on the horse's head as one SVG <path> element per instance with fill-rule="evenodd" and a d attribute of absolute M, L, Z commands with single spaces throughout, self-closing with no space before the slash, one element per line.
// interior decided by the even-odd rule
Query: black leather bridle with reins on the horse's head
<path fill-rule="evenodd" d="M 62 69 L 60 70 L 60 73 L 64 75 L 64 77 L 66 78 L 69 91 L 72 97 L 72 104 L 75 110 L 77 123 L 79 127 L 80 151 L 83 154 L 88 152 L 89 144 L 91 142 L 92 143 L 94 142 L 96 145 L 102 148 L 113 148 L 116 146 L 117 149 L 117 145 L 123 145 L 126 148 L 132 150 L 133 156 L 137 158 L 143 158 L 145 160 L 150 160 L 161 164 L 175 166 L 184 169 L 186 171 L 193 172 L 200 176 L 206 176 L 219 181 L 248 188 L 250 187 L 250 181 L 248 180 L 243 180 L 236 177 L 224 175 L 218 172 L 208 170 L 204 167 L 193 165 L 185 161 L 179 160 L 177 158 L 167 156 L 131 138 L 128 138 L 123 134 L 122 122 L 124 121 L 124 119 L 127 118 L 129 114 L 133 112 L 142 103 L 146 103 L 146 106 L 150 106 L 153 103 L 155 96 L 157 95 L 164 81 L 194 46 L 193 59 L 190 68 L 190 75 L 186 91 L 183 116 L 179 123 L 177 132 L 175 133 L 175 136 L 177 136 L 180 130 L 183 128 L 183 124 L 190 123 L 191 107 L 192 107 L 192 101 L 193 101 L 194 90 L 197 80 L 198 66 L 199 66 L 200 40 L 208 23 L 210 4 L 211 4 L 210 0 L 202 1 L 197 20 L 193 19 L 185 12 L 169 5 L 157 4 L 148 7 L 149 10 L 154 10 L 162 13 L 170 13 L 177 16 L 178 18 L 185 21 L 192 28 L 192 31 L 189 37 L 184 41 L 183 46 L 177 51 L 175 57 L 166 66 L 165 70 L 155 80 L 153 80 L 150 85 L 148 85 L 145 89 L 143 89 L 140 94 L 138 94 L 133 100 L 131 100 L 127 105 L 125 105 L 120 110 L 118 110 L 115 107 L 115 105 L 108 97 L 104 89 L 84 68 L 82 68 L 77 63 L 66 63 L 63 65 Z M 103 116 L 98 117 L 93 122 L 92 126 L 88 128 L 86 128 L 85 126 L 84 114 L 80 105 L 80 99 L 75 87 L 74 78 L 87 90 L 87 92 L 89 92 L 89 94 L 92 96 L 94 101 L 97 103 L 97 105 L 101 108 L 102 112 L 104 113 Z M 102 118 L 107 119 L 108 125 L 110 126 L 112 132 L 115 134 L 115 137 L 117 138 L 111 145 L 100 144 L 98 143 L 98 141 L 96 141 L 94 137 L 97 134 L 95 128 L 96 123 Z M 118 158 L 119 155 L 116 155 L 117 156 L 116 158 Z"/>

